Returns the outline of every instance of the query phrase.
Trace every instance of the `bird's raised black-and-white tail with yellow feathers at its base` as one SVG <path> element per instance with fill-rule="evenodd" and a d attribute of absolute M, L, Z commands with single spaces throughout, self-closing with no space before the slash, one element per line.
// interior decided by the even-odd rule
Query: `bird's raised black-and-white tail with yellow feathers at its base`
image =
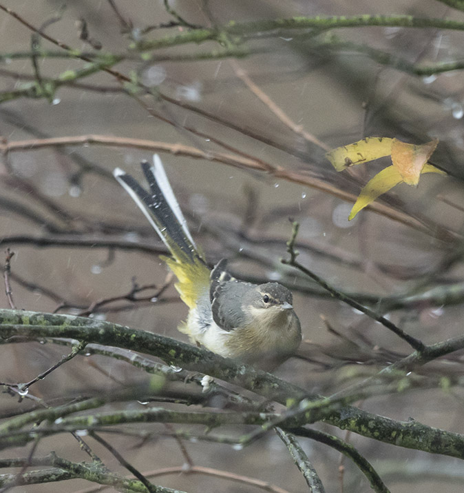
<path fill-rule="evenodd" d="M 114 177 L 134 199 L 167 246 L 171 257 L 164 260 L 179 280 L 176 289 L 182 301 L 189 308 L 195 308 L 199 297 L 209 290 L 209 268 L 191 237 L 160 157 L 154 155 L 152 167 L 147 161 L 141 165 L 149 192 L 120 168 L 114 170 Z"/>

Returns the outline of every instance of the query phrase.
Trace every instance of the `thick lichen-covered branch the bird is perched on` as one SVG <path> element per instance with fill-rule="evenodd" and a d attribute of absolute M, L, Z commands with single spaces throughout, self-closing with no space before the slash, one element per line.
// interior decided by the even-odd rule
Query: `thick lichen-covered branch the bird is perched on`
<path fill-rule="evenodd" d="M 98 343 L 152 354 L 169 365 L 216 376 L 284 405 L 298 403 L 305 398 L 324 399 L 320 396 L 308 396 L 305 390 L 296 385 L 207 350 L 114 323 L 70 315 L 0 310 L 0 342 L 8 343 L 8 340 L 15 336 L 33 339 L 76 339 L 85 343 Z M 456 350 L 460 344 L 462 347 L 461 340 L 445 341 L 441 346 L 431 346 L 425 353 L 415 352 L 408 357 L 408 364 L 423 364 L 433 357 Z M 405 370 L 407 368 L 408 365 L 405 365 Z M 303 425 L 303 419 L 304 416 L 300 423 L 293 424 Z M 463 435 L 439 430 L 416 421 L 395 421 L 348 405 L 340 405 L 338 410 L 330 408 L 330 415 L 324 417 L 324 421 L 386 443 L 464 459 Z"/>

